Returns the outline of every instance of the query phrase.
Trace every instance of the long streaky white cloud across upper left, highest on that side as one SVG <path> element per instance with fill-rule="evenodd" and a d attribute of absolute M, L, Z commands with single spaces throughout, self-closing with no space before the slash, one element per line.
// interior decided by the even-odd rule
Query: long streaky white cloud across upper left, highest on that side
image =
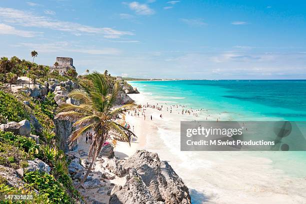
<path fill-rule="evenodd" d="M 92 27 L 75 22 L 60 21 L 14 8 L 0 7 L 0 20 L 25 27 L 49 28 L 71 33 L 101 34 L 105 38 L 119 38 L 122 35 L 133 35 L 130 31 L 120 31 L 110 27 Z"/>

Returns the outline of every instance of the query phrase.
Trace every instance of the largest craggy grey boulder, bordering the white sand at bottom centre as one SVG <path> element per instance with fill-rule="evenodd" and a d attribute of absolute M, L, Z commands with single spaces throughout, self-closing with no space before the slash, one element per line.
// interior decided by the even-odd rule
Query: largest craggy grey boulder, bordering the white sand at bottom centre
<path fill-rule="evenodd" d="M 125 170 L 135 168 L 152 196 L 165 203 L 191 203 L 187 186 L 166 161 L 160 161 L 157 153 L 137 150 L 124 160 Z"/>

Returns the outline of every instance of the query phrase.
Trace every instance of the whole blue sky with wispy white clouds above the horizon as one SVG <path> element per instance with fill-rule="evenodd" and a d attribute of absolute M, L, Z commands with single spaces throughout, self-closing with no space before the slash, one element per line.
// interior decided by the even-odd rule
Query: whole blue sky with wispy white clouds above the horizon
<path fill-rule="evenodd" d="M 305 0 L 1 0 L 0 56 L 140 78 L 306 79 Z"/>

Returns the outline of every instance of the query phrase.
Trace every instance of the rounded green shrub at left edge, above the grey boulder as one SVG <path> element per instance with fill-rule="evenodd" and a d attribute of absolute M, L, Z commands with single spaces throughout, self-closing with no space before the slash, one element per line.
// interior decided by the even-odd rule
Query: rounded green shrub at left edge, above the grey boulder
<path fill-rule="evenodd" d="M 8 121 L 21 121 L 28 119 L 29 115 L 24 104 L 10 93 L 0 90 L 0 115 Z"/>

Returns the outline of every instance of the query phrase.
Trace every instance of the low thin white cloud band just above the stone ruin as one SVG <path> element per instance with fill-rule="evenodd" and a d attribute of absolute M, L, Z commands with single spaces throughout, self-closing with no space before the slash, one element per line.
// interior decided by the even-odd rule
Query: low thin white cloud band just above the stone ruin
<path fill-rule="evenodd" d="M 95 48 L 79 48 L 74 45 L 74 43 L 69 43 L 67 41 L 59 41 L 53 43 L 20 43 L 17 46 L 25 46 L 30 47 L 31 49 L 35 49 L 38 52 L 78 52 L 78 53 L 86 53 L 92 55 L 117 55 L 121 53 L 121 50 L 116 48 L 103 48 L 103 49 L 95 49 Z"/>

